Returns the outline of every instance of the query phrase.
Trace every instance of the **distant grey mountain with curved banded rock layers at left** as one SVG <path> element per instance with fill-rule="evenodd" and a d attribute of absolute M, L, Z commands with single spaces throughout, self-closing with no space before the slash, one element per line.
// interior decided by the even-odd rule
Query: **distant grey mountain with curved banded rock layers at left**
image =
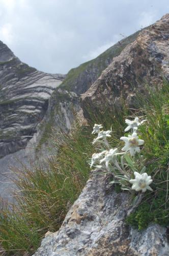
<path fill-rule="evenodd" d="M 0 41 L 0 158 L 26 146 L 64 78 L 29 67 Z"/>

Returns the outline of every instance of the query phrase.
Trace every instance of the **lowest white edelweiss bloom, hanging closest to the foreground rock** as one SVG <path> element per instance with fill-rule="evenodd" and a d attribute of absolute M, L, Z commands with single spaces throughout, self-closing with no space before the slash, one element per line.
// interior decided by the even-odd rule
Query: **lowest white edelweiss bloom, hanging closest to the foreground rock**
<path fill-rule="evenodd" d="M 134 172 L 134 176 L 135 179 L 129 181 L 131 184 L 133 184 L 131 187 L 132 189 L 135 189 L 135 191 L 142 190 L 142 192 L 146 192 L 147 189 L 153 191 L 153 189 L 149 186 L 153 182 L 151 176 L 148 176 L 147 173 L 139 174 L 137 172 Z"/>

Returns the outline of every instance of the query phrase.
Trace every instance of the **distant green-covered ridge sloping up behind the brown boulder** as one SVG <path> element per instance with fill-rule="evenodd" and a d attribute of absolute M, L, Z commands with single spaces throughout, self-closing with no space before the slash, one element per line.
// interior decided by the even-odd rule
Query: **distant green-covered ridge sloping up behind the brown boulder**
<path fill-rule="evenodd" d="M 97 58 L 82 63 L 79 67 L 71 69 L 61 88 L 73 91 L 77 94 L 85 93 L 101 75 L 101 72 L 107 68 L 112 59 L 118 56 L 121 51 L 138 36 L 139 31 L 120 40 L 117 44 L 107 49 Z"/>

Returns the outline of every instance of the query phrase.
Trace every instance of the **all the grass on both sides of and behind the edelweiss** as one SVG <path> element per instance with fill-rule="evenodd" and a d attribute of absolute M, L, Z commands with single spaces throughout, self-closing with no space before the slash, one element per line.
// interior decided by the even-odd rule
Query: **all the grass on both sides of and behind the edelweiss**
<path fill-rule="evenodd" d="M 107 107 L 102 113 L 89 110 L 89 126 L 76 124 L 70 135 L 53 131 L 50 140 L 55 155 L 31 169 L 22 166 L 15 181 L 20 190 L 15 195 L 17 204 L 4 205 L 0 214 L 0 239 L 5 253 L 31 255 L 46 231 L 59 229 L 89 177 L 89 158 L 95 152 L 93 124 L 102 123 L 105 130 L 111 126 L 110 144 L 121 147 L 119 138 L 124 135 L 126 117 L 147 119 L 139 127 L 140 138 L 145 140 L 141 154 L 146 172 L 153 178 L 153 192 L 146 191 L 126 222 L 138 229 L 150 223 L 168 225 L 169 86 L 164 82 L 162 89 L 148 90 L 146 99 L 137 96 L 135 110 L 127 109 L 125 102 L 121 108 Z"/>

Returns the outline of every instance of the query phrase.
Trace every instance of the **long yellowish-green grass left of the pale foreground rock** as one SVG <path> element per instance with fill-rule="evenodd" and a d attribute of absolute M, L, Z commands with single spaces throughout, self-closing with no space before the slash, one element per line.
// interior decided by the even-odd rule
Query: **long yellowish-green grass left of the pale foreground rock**
<path fill-rule="evenodd" d="M 57 157 L 31 169 L 22 166 L 15 181 L 20 190 L 17 204 L 1 210 L 0 239 L 9 255 L 31 255 L 46 231 L 58 230 L 89 177 L 88 155 L 83 153 L 92 145 L 86 127 L 74 127 L 71 135 L 57 134 L 51 140 L 54 148 L 62 140 Z"/>

